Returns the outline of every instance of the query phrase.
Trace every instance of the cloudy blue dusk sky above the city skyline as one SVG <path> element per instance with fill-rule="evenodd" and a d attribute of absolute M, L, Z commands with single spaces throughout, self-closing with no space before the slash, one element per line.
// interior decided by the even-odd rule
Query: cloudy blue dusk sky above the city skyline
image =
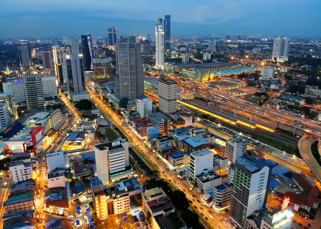
<path fill-rule="evenodd" d="M 158 18 L 171 15 L 172 36 L 261 34 L 321 37 L 320 0 L 2 0 L 1 38 L 154 36 Z"/>

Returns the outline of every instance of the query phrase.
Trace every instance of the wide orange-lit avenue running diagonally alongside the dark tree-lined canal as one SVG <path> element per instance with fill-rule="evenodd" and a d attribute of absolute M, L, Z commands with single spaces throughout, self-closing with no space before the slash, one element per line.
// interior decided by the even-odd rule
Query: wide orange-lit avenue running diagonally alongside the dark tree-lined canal
<path fill-rule="evenodd" d="M 162 162 L 157 158 L 156 154 L 153 153 L 151 148 L 148 148 L 144 143 L 141 138 L 139 138 L 138 135 L 136 135 L 130 128 L 129 126 L 126 126 L 126 129 L 123 129 L 121 127 L 121 119 L 122 117 L 119 117 L 112 109 L 110 109 L 109 105 L 104 103 L 104 101 L 93 91 L 88 90 L 91 93 L 92 96 L 92 101 L 97 104 L 97 106 L 100 108 L 105 113 L 106 118 L 111 121 L 112 123 L 116 124 L 120 130 L 123 130 L 123 132 L 126 132 L 129 135 L 129 141 L 130 142 L 135 142 L 135 144 L 150 157 L 150 159 L 155 162 L 155 165 L 159 168 L 160 170 L 160 177 L 167 180 L 169 183 L 172 185 L 177 185 L 177 187 L 184 191 L 187 197 L 193 202 L 192 205 L 196 206 L 197 209 L 203 209 L 203 214 L 204 217 L 208 218 L 208 222 L 213 226 L 213 227 L 220 227 L 220 229 L 229 229 L 231 228 L 230 225 L 226 222 L 221 221 L 221 216 L 228 217 L 229 213 L 224 212 L 223 214 L 219 213 L 210 213 L 208 212 L 209 208 L 205 207 L 202 204 L 201 198 L 198 196 L 198 194 L 191 190 L 191 187 L 184 181 L 182 181 L 180 178 L 177 177 L 177 174 L 175 172 L 166 169 L 166 164 L 162 164 Z M 107 115 L 108 114 L 108 115 Z M 110 118 L 111 117 L 111 118 Z M 128 136 L 127 136 L 128 138 Z M 163 173 L 164 171 L 164 173 Z M 189 192 L 191 193 L 189 193 Z M 192 197 L 192 194 L 195 196 L 194 198 Z M 200 202 L 198 202 L 199 200 Z M 213 208 L 211 208 L 213 210 Z M 203 218 L 203 221 L 205 221 L 205 218 Z"/>

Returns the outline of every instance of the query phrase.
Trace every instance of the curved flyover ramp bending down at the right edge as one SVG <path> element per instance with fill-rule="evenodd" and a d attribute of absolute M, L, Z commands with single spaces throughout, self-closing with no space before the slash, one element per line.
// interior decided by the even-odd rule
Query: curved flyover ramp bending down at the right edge
<path fill-rule="evenodd" d="M 311 152 L 311 146 L 317 140 L 315 137 L 304 135 L 299 140 L 299 152 L 303 160 L 308 164 L 311 172 L 316 176 L 317 180 L 321 182 L 321 166 L 317 163 Z"/>

